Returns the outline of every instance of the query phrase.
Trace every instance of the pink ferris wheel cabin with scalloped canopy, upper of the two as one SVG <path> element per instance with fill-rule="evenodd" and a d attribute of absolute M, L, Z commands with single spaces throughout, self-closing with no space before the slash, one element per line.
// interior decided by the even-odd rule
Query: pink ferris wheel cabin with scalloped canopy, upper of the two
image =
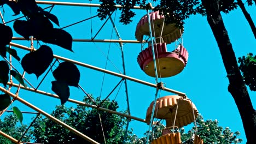
<path fill-rule="evenodd" d="M 176 27 L 175 23 L 165 24 L 165 17 L 159 15 L 159 11 L 149 13 L 150 23 L 152 23 L 152 33 L 154 39 L 154 53 L 156 69 L 159 77 L 170 77 L 181 73 L 188 61 L 188 51 L 183 46 L 183 41 L 176 44 L 173 51 L 168 52 L 166 44 L 178 41 L 182 37 L 183 28 Z M 145 15 L 138 22 L 135 37 L 138 41 L 143 40 L 144 35 L 150 35 L 148 15 Z M 182 39 L 181 39 L 182 40 Z M 141 69 L 149 76 L 155 77 L 155 64 L 152 52 L 152 44 L 142 50 L 137 62 Z"/>

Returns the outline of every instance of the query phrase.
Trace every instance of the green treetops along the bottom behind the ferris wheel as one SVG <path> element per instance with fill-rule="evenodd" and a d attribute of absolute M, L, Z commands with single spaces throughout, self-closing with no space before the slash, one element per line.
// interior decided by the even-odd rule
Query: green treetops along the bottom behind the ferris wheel
<path fill-rule="evenodd" d="M 85 102 L 90 103 L 88 98 L 84 99 Z M 102 100 L 96 99 L 96 103 L 101 103 Z M 102 107 L 110 110 L 117 111 L 117 101 L 107 99 L 102 103 Z M 73 128 L 78 129 L 80 132 L 90 136 L 97 142 L 104 143 L 122 143 L 125 134 L 125 124 L 127 119 L 111 113 L 98 111 L 96 109 L 89 109 L 85 106 L 77 105 L 76 107 L 66 107 L 65 105 L 56 106 L 56 110 L 51 115 L 60 119 L 61 121 L 72 125 Z M 101 120 L 100 117 L 101 116 Z M 7 115 L 3 121 L 0 119 L 0 126 L 2 131 L 13 136 L 15 139 L 20 139 L 20 136 L 24 133 L 27 125 L 18 125 L 18 118 L 16 115 Z M 101 124 L 102 123 L 102 124 Z M 102 128 L 104 136 L 102 133 Z M 218 125 L 217 119 L 212 121 L 208 119 L 203 120 L 203 117 L 199 115 L 196 119 L 197 135 L 203 139 L 204 143 L 241 143 L 239 131 L 231 131 L 229 127 L 223 128 Z M 153 133 L 150 131 L 150 140 L 157 139 L 161 136 L 161 130 L 164 129 L 163 124 L 156 124 L 153 126 Z M 194 134 L 193 130 L 185 131 L 184 128 L 180 128 L 182 142 L 189 142 L 191 136 Z M 147 135 L 146 132 L 144 135 Z M 23 137 L 22 141 L 33 140 L 37 143 L 88 143 L 79 136 L 73 134 L 67 129 L 61 127 L 48 118 L 39 116 L 36 122 L 33 123 L 32 128 Z M 11 143 L 8 139 L 0 136 L 0 141 L 5 143 Z M 125 143 L 142 144 L 146 143 L 146 137 L 139 137 L 133 133 L 132 130 L 127 131 L 127 139 Z"/>

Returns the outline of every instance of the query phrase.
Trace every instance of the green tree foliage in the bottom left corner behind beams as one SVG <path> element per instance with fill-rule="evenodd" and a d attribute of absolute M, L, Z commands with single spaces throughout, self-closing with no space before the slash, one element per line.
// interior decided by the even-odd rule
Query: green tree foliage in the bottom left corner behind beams
<path fill-rule="evenodd" d="M 1 130 L 14 137 L 14 139 L 19 140 L 24 131 L 27 128 L 27 125 L 17 125 L 19 122 L 18 117 L 14 114 L 10 114 L 5 116 L 3 119 L 0 119 L 0 128 Z M 25 136 L 21 139 L 21 141 L 28 142 L 31 137 L 29 134 L 25 134 Z M 7 138 L 0 135 L 0 142 L 4 144 L 11 144 L 12 142 Z"/>

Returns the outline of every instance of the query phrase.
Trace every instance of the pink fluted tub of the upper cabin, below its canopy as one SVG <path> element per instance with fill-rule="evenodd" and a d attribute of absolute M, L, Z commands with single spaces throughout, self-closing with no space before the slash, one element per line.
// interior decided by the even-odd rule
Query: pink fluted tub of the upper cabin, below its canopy
<path fill-rule="evenodd" d="M 154 44 L 156 68 L 159 77 L 170 77 L 181 73 L 188 61 L 188 51 L 182 45 L 168 52 L 166 43 Z M 141 51 L 137 57 L 141 69 L 149 76 L 155 77 L 152 46 Z"/>

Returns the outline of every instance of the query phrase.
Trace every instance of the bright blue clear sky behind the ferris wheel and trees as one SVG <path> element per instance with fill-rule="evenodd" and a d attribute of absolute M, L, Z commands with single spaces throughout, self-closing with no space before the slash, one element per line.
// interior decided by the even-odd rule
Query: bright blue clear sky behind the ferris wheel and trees
<path fill-rule="evenodd" d="M 86 2 L 88 1 L 75 1 L 75 2 Z M 93 3 L 94 1 L 92 1 Z M 95 1 L 96 2 L 96 1 Z M 41 5 L 43 8 L 48 5 Z M 251 8 L 247 8 L 252 16 L 253 20 L 256 20 L 255 10 L 253 11 L 253 5 Z M 8 6 L 4 7 L 5 14 L 4 20 L 9 21 L 19 16 L 13 15 L 13 11 Z M 1 9 L 2 11 L 2 9 Z M 69 7 L 56 5 L 52 13 L 55 14 L 60 21 L 60 27 L 67 26 L 74 22 L 86 19 L 91 15 L 96 15 L 96 8 L 91 8 L 92 14 L 90 14 L 89 7 Z M 122 25 L 119 23 L 118 18 L 120 11 L 113 14 L 112 18 L 115 19 L 115 24 L 120 33 L 120 36 L 124 40 L 135 40 L 135 29 L 137 22 L 146 13 L 146 10 L 135 10 L 136 16 L 133 17 L 133 22 L 130 25 Z M 228 30 L 228 34 L 235 51 L 236 57 L 247 55 L 249 52 L 256 53 L 254 47 L 256 42 L 251 32 L 245 17 L 242 15 L 241 10 L 232 11 L 230 14 L 223 14 L 223 20 Z M 90 39 L 91 38 L 91 22 L 92 22 L 92 37 L 96 34 L 98 29 L 102 26 L 104 21 L 98 18 L 92 19 L 92 21 L 85 21 L 74 25 L 65 30 L 71 33 L 74 39 Z M 13 23 L 8 23 L 8 26 L 13 26 Z M 57 28 L 57 26 L 55 25 Z M 110 21 L 106 23 L 102 31 L 97 35 L 95 39 L 118 39 L 113 31 Z M 111 38 L 112 35 L 112 38 Z M 14 37 L 21 37 L 18 34 L 14 34 Z M 241 139 L 246 142 L 245 132 L 243 130 L 241 117 L 238 113 L 234 99 L 228 92 L 228 79 L 226 78 L 226 71 L 220 56 L 220 52 L 213 37 L 210 26 L 207 23 L 206 17 L 200 15 L 191 16 L 185 20 L 184 34 L 183 34 L 184 47 L 189 52 L 189 59 L 187 67 L 182 73 L 161 79 L 162 82 L 166 83 L 167 88 L 175 89 L 177 91 L 186 93 L 190 98 L 204 119 L 218 119 L 219 125 L 222 127 L 229 127 L 232 131 L 240 131 Z M 12 41 L 13 43 L 30 46 L 30 41 Z M 43 44 L 42 42 L 40 44 Z M 59 46 L 47 44 L 53 48 L 54 54 L 71 58 L 76 61 L 94 65 L 96 67 L 104 68 L 106 64 L 106 57 L 109 50 L 109 59 L 115 65 L 108 62 L 108 70 L 118 73 L 123 71 L 121 52 L 118 44 L 109 43 L 73 43 L 73 51 L 69 52 L 62 49 Z M 36 47 L 36 43 L 34 44 Z M 167 45 L 167 49 L 170 51 L 173 49 L 173 45 Z M 18 50 L 18 48 L 14 48 Z M 153 77 L 149 77 L 139 68 L 137 63 L 137 56 L 141 52 L 141 44 L 124 44 L 124 56 L 126 75 L 141 79 L 143 81 L 155 83 Z M 20 57 L 25 56 L 27 51 L 18 50 Z M 103 54 L 104 53 L 104 54 Z M 14 66 L 22 73 L 21 65 L 14 60 Z M 118 69 L 116 69 L 117 67 Z M 101 92 L 103 73 L 88 68 L 78 67 L 81 73 L 80 85 L 85 89 L 86 92 L 91 93 L 94 97 L 98 97 Z M 54 68 L 55 69 L 55 68 Z M 43 74 L 44 75 L 44 74 Z M 36 79 L 35 75 L 25 75 L 34 86 L 37 86 L 43 76 Z M 39 87 L 40 90 L 53 93 L 51 91 L 51 81 L 54 77 L 51 73 L 48 74 L 42 85 Z M 117 85 L 121 80 L 119 77 L 112 75 L 105 75 L 101 97 L 104 98 L 110 91 Z M 128 93 L 130 100 L 131 115 L 139 118 L 146 117 L 146 111 L 149 104 L 154 100 L 155 88 L 144 86 L 142 84 L 127 81 Z M 2 86 L 2 85 L 1 85 Z M 16 88 L 12 88 L 12 92 L 15 93 Z M 249 91 L 249 89 L 248 89 Z M 46 97 L 24 90 L 20 91 L 20 97 L 26 99 L 30 103 L 38 106 L 40 109 L 50 113 L 54 110 L 55 105 L 60 104 L 60 100 Z M 253 106 L 256 107 L 256 95 L 249 91 Z M 126 96 L 124 84 L 121 86 L 119 93 L 114 91 L 110 96 L 110 99 L 114 99 L 117 95 L 117 101 L 120 105 L 120 110 L 126 110 Z M 172 93 L 161 91 L 160 97 L 165 95 L 173 95 Z M 84 93 L 75 87 L 71 88 L 72 99 L 82 100 Z M 65 105 L 74 106 L 67 102 Z M 12 106 L 18 106 L 22 111 L 33 111 L 25 105 L 22 105 L 18 101 Z M 30 115 L 24 114 L 25 123 L 31 122 Z M 138 136 L 143 136 L 143 133 L 148 130 L 148 125 L 142 122 L 132 121 L 130 128 L 134 130 L 134 133 Z M 185 127 L 186 130 L 190 127 Z"/>

